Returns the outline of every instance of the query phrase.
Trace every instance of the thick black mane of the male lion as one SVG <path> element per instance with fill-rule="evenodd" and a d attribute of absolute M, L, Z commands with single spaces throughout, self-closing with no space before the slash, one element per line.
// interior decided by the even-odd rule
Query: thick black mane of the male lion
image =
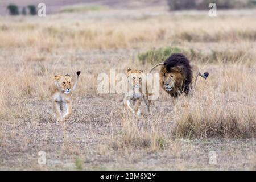
<path fill-rule="evenodd" d="M 183 91 L 185 94 L 188 94 L 189 85 L 192 82 L 192 70 L 191 65 L 189 64 L 189 60 L 182 53 L 173 53 L 164 61 L 163 68 L 166 69 L 166 72 L 170 73 L 173 71 L 172 68 L 174 67 L 182 67 L 181 73 L 185 79 L 181 91 Z"/>

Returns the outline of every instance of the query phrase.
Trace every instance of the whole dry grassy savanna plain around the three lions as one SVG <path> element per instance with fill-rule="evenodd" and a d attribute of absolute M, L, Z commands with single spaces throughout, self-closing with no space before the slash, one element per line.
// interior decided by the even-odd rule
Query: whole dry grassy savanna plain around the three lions
<path fill-rule="evenodd" d="M 169 13 L 97 9 L 0 18 L 0 169 L 256 169 L 255 10 Z M 179 48 L 209 78 L 175 109 L 160 92 L 153 115 L 126 117 L 122 94 L 98 94 L 99 73 L 148 71 L 137 55 Z M 159 60 L 159 62 L 162 60 Z M 68 122 L 56 123 L 55 73 L 81 70 Z M 46 165 L 38 152 L 46 152 Z M 209 164 L 209 152 L 217 164 Z"/>

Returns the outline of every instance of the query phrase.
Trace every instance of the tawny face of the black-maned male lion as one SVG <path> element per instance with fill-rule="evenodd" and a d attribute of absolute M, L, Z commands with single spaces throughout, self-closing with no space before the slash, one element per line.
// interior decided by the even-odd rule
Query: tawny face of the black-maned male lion
<path fill-rule="evenodd" d="M 183 83 L 183 76 L 179 72 L 164 73 L 163 74 L 163 87 L 167 92 L 177 90 Z"/>

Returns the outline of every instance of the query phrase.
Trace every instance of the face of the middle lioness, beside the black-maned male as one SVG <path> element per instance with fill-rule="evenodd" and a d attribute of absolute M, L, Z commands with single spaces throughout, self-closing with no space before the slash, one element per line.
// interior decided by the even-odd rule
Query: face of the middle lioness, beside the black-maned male
<path fill-rule="evenodd" d="M 133 85 L 133 88 L 138 89 L 141 88 L 142 85 L 142 75 L 143 71 L 142 70 L 137 70 L 137 69 L 127 69 L 127 76 L 128 76 L 128 82 L 129 84 Z"/>

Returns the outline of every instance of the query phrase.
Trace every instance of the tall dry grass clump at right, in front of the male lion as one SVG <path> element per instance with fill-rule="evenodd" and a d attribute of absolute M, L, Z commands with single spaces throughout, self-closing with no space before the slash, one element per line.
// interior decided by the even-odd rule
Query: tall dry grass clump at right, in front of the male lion
<path fill-rule="evenodd" d="M 175 113 L 176 137 L 256 137 L 255 105 L 230 103 L 220 97 L 192 100 Z"/>

